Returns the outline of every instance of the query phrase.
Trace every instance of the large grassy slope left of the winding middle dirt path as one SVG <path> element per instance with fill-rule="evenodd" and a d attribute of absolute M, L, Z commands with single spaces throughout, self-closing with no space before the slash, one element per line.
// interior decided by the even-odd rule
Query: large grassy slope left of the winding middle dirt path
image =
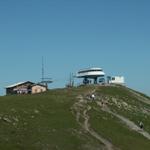
<path fill-rule="evenodd" d="M 52 90 L 45 94 L 0 98 L 1 150 L 84 150 L 101 144 L 81 130 L 70 108 L 75 93 Z M 7 121 L 5 120 L 7 119 Z M 89 148 L 86 147 L 89 145 Z"/>

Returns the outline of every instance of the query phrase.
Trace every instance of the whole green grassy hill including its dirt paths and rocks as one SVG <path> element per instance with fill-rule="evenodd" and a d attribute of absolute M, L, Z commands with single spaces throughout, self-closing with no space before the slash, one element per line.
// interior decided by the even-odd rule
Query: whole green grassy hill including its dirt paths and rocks
<path fill-rule="evenodd" d="M 150 98 L 122 86 L 0 97 L 0 150 L 149 150 L 149 133 Z"/>

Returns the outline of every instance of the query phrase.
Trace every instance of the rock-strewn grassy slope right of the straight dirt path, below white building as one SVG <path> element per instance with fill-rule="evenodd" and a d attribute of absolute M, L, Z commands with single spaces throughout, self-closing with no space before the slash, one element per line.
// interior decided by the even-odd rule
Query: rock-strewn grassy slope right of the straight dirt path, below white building
<path fill-rule="evenodd" d="M 150 105 L 139 101 L 132 93 L 125 87 L 101 87 L 98 89 L 98 94 L 103 95 L 110 102 L 111 109 L 118 114 L 121 114 L 137 125 L 142 121 L 145 130 L 150 133 Z M 143 95 L 143 98 L 149 98 Z M 148 99 L 150 101 L 150 98 Z M 123 103 L 127 104 L 127 107 Z M 117 103 L 117 104 L 116 104 Z"/>

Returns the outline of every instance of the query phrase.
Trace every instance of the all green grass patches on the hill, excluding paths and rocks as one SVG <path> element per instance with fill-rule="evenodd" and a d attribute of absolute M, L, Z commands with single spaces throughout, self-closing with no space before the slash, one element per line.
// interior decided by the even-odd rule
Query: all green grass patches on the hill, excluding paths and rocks
<path fill-rule="evenodd" d="M 71 107 L 78 95 L 86 95 L 95 86 L 50 90 L 43 94 L 0 97 L 0 150 L 97 150 L 103 149 L 97 141 L 78 124 Z M 123 87 L 100 87 L 99 95 L 117 97 L 132 106 L 149 105 L 137 101 Z M 150 142 L 129 130 L 117 118 L 97 110 L 90 111 L 91 127 L 121 150 L 148 150 Z M 141 120 L 143 113 L 112 109 L 121 115 Z M 148 125 L 150 118 L 143 120 Z M 82 120 L 84 121 L 84 120 Z"/>

